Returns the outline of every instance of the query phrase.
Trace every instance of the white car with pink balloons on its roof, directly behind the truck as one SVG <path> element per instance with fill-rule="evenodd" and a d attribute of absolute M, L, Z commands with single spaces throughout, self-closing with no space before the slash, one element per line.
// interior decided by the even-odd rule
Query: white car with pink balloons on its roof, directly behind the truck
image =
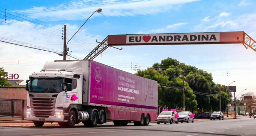
<path fill-rule="evenodd" d="M 179 123 L 178 118 L 175 118 L 175 114 L 177 114 L 176 111 L 163 111 L 161 112 L 157 117 L 157 124 L 160 123 L 170 123 L 172 122 Z"/>

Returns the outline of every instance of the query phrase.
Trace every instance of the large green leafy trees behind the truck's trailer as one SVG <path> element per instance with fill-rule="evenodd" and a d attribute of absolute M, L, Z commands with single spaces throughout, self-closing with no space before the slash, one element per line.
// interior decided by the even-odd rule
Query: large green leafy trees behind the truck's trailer
<path fill-rule="evenodd" d="M 173 58 L 166 58 L 152 68 L 138 70 L 136 75 L 158 82 L 158 105 L 170 108 L 182 107 L 184 75 L 186 111 L 219 111 L 221 87 L 222 111 L 225 111 L 231 94 L 224 85 L 213 82 L 212 74 L 194 66 L 185 65 Z"/>

